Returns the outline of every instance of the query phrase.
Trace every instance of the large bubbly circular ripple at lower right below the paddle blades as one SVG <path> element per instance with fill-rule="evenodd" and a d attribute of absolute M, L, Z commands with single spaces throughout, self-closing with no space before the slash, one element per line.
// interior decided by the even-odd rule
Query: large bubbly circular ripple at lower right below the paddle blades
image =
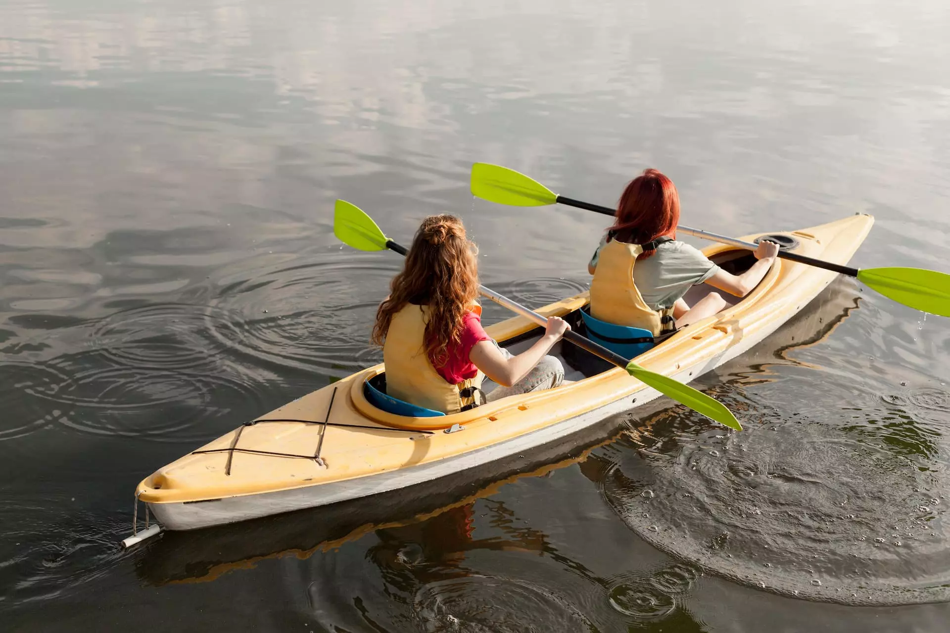
<path fill-rule="evenodd" d="M 739 583 L 845 604 L 950 599 L 944 469 L 857 431 L 796 420 L 681 434 L 674 454 L 614 457 L 601 490 L 644 540 Z"/>

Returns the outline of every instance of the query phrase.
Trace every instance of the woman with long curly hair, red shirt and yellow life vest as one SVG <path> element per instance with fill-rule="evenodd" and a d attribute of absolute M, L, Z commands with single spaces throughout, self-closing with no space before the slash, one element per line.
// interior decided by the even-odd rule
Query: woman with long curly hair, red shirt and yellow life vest
<path fill-rule="evenodd" d="M 549 318 L 541 339 L 517 356 L 485 333 L 476 254 L 454 215 L 431 215 L 416 232 L 372 329 L 393 398 L 449 414 L 485 401 L 484 376 L 501 385 L 486 400 L 563 381 L 561 362 L 546 355 L 569 329 L 562 319 Z"/>

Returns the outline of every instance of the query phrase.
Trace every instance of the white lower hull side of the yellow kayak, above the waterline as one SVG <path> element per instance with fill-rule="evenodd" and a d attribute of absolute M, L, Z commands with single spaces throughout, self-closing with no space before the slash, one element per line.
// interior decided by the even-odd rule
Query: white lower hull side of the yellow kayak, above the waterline
<path fill-rule="evenodd" d="M 828 280 L 830 282 L 830 279 Z M 824 288 L 824 286 L 823 286 Z M 790 318 L 792 314 L 788 315 Z M 769 334 L 782 326 L 786 320 L 775 321 L 764 326 L 750 337 L 733 344 L 722 354 L 713 356 L 706 363 L 680 368 L 674 378 L 680 382 L 690 382 L 712 371 L 722 363 L 746 352 Z M 633 379 L 631 379 L 633 380 Z M 401 468 L 390 473 L 381 473 L 357 477 L 344 481 L 281 490 L 268 493 L 243 494 L 208 501 L 149 503 L 148 507 L 166 530 L 198 530 L 211 526 L 237 523 L 249 519 L 269 516 L 282 512 L 293 512 L 306 508 L 326 506 L 348 499 L 366 497 L 372 494 L 389 493 L 408 488 L 416 484 L 433 481 L 449 475 L 458 475 L 468 469 L 518 455 L 536 449 L 558 439 L 568 437 L 610 416 L 626 413 L 639 406 L 656 400 L 660 393 L 655 389 L 637 391 L 635 398 L 617 400 L 605 406 L 588 411 L 580 416 L 564 419 L 549 427 L 512 438 L 498 444 L 486 446 L 468 453 L 448 457 L 436 462 Z M 464 430 L 460 433 L 465 433 Z"/>

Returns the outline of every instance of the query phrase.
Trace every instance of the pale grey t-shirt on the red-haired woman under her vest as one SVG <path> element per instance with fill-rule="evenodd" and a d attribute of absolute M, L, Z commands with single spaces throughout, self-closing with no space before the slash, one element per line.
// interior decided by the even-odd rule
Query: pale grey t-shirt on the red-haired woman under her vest
<path fill-rule="evenodd" d="M 600 239 L 590 265 L 597 267 L 600 249 L 607 236 Z M 702 284 L 719 271 L 706 255 L 684 242 L 664 242 L 656 247 L 653 257 L 637 261 L 634 284 L 647 306 L 658 310 L 673 307 L 691 286 Z"/>

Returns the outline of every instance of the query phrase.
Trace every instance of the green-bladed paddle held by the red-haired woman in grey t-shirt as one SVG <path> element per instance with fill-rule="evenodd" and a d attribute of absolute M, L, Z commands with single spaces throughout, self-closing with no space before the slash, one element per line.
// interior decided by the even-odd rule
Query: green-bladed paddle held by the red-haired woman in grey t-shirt
<path fill-rule="evenodd" d="M 476 162 L 472 165 L 471 191 L 472 195 L 485 200 L 516 207 L 541 207 L 560 202 L 569 207 L 586 209 L 599 214 L 615 214 L 615 210 L 610 207 L 602 207 L 557 195 L 531 177 L 524 176 L 513 169 L 486 162 Z M 757 248 L 757 245 L 751 242 L 699 231 L 683 225 L 676 227 L 676 230 L 680 233 L 729 244 L 740 249 L 754 251 Z M 869 289 L 876 290 L 899 304 L 931 314 L 950 316 L 950 275 L 945 272 L 898 267 L 859 270 L 794 252 L 779 251 L 778 256 L 788 259 L 788 261 L 856 277 L 859 281 L 864 282 L 864 285 Z"/>

